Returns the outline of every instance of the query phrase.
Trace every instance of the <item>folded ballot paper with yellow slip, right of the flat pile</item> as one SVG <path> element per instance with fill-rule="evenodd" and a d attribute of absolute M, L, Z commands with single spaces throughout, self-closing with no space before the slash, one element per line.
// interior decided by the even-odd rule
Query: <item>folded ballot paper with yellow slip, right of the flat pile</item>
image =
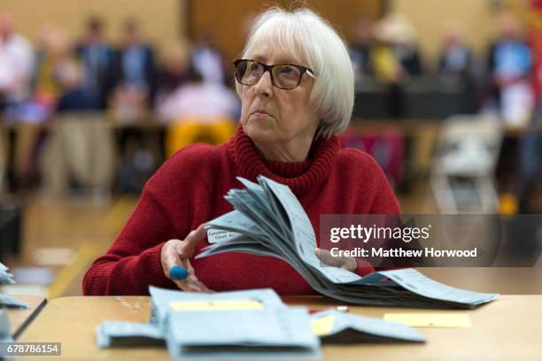
<path fill-rule="evenodd" d="M 411 326 L 335 310 L 314 313 L 311 326 L 323 343 L 425 342 Z"/>

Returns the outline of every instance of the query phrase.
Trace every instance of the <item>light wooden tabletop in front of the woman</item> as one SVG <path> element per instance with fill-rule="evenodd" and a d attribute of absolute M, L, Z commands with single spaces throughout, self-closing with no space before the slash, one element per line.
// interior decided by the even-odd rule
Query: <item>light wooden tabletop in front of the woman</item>
<path fill-rule="evenodd" d="M 284 301 L 311 307 L 335 304 L 320 296 L 285 297 Z M 325 345 L 322 349 L 326 360 L 542 359 L 541 310 L 542 296 L 500 296 L 476 310 L 444 311 L 468 312 L 472 327 L 419 328 L 427 338 L 425 344 Z M 425 310 L 351 308 L 352 313 L 373 317 L 406 311 Z M 166 348 L 97 348 L 95 329 L 105 319 L 145 322 L 149 315 L 147 296 L 57 298 L 47 304 L 18 341 L 62 342 L 62 357 L 67 359 L 169 359 Z"/>

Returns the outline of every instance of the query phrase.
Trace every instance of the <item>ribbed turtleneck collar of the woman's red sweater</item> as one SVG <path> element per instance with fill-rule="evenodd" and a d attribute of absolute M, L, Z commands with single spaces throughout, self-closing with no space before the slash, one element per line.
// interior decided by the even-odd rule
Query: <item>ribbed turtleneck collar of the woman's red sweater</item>
<path fill-rule="evenodd" d="M 298 163 L 284 163 L 262 159 L 252 139 L 237 127 L 234 139 L 236 163 L 239 175 L 256 181 L 260 174 L 290 187 L 296 196 L 305 195 L 328 177 L 329 169 L 336 161 L 339 142 L 336 136 L 329 140 L 313 142 L 309 158 Z"/>

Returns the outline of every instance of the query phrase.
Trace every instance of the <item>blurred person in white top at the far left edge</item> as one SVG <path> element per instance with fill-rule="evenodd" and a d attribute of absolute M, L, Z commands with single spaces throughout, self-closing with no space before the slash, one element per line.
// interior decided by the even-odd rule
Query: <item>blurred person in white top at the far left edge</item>
<path fill-rule="evenodd" d="M 27 100 L 33 69 L 30 42 L 15 32 L 10 14 L 0 13 L 0 111 Z"/>

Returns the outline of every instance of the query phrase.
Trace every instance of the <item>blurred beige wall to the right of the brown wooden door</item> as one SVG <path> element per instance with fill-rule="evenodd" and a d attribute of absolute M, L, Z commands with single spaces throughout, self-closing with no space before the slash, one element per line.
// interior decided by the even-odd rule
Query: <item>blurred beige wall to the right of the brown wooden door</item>
<path fill-rule="evenodd" d="M 494 34 L 495 10 L 490 0 L 392 0 L 391 11 L 399 12 L 416 29 L 423 54 L 435 58 L 442 24 L 458 19 L 476 52 L 484 52 Z"/>

